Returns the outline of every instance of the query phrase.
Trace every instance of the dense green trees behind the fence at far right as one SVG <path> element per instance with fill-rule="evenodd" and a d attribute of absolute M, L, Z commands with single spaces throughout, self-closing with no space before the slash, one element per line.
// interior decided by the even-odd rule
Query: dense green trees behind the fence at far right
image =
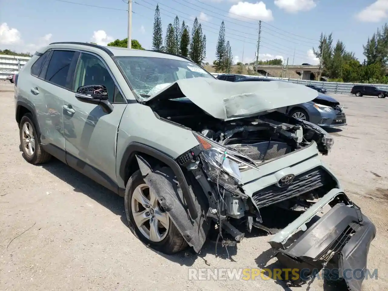
<path fill-rule="evenodd" d="M 313 51 L 322 60 L 322 76 L 327 76 L 329 81 L 387 84 L 388 25 L 377 29 L 363 45 L 363 49 L 365 59 L 360 62 L 353 52 L 346 50 L 341 40 L 333 43 L 332 33 L 321 33 L 319 46 L 313 48 Z"/>

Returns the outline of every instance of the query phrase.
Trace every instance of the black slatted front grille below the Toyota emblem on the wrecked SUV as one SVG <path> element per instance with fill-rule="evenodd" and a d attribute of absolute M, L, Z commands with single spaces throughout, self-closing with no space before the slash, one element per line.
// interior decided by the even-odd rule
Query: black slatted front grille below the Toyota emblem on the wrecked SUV
<path fill-rule="evenodd" d="M 280 201 L 300 196 L 312 190 L 326 186 L 330 189 L 336 183 L 327 171 L 321 167 L 314 168 L 294 178 L 294 181 L 286 187 L 270 185 L 253 194 L 252 199 L 258 208 L 265 207 Z"/>

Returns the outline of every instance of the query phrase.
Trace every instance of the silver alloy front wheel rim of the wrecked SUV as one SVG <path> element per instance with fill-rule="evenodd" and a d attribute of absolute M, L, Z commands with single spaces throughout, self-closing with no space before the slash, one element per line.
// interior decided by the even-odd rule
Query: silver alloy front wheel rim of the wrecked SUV
<path fill-rule="evenodd" d="M 141 184 L 133 191 L 131 211 L 137 228 L 146 239 L 160 242 L 167 236 L 170 218 L 147 184 Z"/>

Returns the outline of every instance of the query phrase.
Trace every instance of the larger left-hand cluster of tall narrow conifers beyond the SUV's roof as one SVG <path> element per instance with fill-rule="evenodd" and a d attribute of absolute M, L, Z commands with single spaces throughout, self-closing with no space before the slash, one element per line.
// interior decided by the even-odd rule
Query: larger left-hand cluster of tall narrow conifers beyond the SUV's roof
<path fill-rule="evenodd" d="M 168 52 L 171 54 L 189 57 L 196 64 L 203 64 L 206 57 L 206 35 L 202 32 L 201 23 L 197 17 L 193 27 L 190 28 L 176 16 L 173 23 L 169 23 L 163 42 L 162 21 L 159 4 L 156 5 L 154 16 L 154 29 L 152 32 L 152 50 Z"/>

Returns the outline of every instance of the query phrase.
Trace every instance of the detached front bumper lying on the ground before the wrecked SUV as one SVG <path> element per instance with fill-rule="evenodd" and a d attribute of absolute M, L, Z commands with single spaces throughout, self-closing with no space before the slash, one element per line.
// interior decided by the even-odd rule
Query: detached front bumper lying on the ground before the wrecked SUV
<path fill-rule="evenodd" d="M 333 206 L 331 210 L 307 229 L 306 223 L 327 204 Z M 286 242 L 299 230 L 304 233 L 287 248 Z M 336 274 L 345 279 L 350 290 L 360 291 L 369 247 L 375 236 L 374 224 L 345 193 L 333 189 L 269 243 L 277 251 L 279 262 L 298 273 L 291 279 L 294 285 L 311 280 L 330 261 L 336 264 Z M 358 273 L 354 275 L 356 270 Z"/>

